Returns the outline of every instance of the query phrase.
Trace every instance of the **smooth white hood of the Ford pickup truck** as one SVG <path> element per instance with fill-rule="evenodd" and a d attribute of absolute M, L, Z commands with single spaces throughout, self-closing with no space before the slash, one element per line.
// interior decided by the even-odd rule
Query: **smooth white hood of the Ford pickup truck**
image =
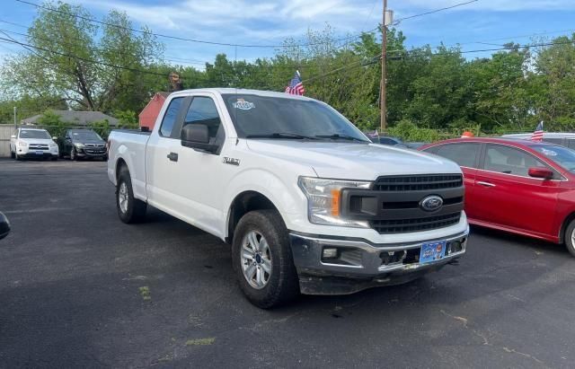
<path fill-rule="evenodd" d="M 319 177 L 375 180 L 381 175 L 460 173 L 436 155 L 387 145 L 296 140 L 247 140 L 253 152 L 311 166 Z"/>

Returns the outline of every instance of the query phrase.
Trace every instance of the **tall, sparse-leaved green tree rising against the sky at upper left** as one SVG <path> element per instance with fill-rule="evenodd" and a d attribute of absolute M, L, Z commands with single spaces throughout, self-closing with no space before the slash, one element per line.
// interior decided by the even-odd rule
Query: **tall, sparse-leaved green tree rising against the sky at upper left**
<path fill-rule="evenodd" d="M 45 7 L 55 11 L 39 8 L 28 31 L 33 48 L 4 63 L 6 91 L 61 96 L 78 110 L 141 109 L 151 92 L 138 70 L 162 57 L 162 45 L 146 29 L 139 36 L 128 31 L 125 13 L 112 11 L 105 20 L 110 25 L 100 28 L 81 5 Z"/>

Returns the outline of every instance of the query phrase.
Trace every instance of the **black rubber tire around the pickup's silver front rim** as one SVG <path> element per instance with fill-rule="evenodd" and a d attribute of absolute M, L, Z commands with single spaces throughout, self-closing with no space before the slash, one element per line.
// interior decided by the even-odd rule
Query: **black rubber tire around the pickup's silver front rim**
<path fill-rule="evenodd" d="M 260 233 L 269 244 L 271 259 L 269 279 L 266 285 L 260 288 L 251 286 L 243 272 L 243 242 L 247 234 L 253 231 Z M 251 303 L 262 309 L 288 303 L 299 294 L 299 280 L 289 244 L 288 229 L 276 210 L 256 210 L 243 215 L 234 231 L 232 263 L 243 294 Z M 244 265 L 247 267 L 251 262 Z"/>

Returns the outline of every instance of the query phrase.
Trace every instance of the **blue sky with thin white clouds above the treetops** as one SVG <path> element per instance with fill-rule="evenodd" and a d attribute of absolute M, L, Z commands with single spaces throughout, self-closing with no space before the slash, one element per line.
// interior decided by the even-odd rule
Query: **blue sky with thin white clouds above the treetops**
<path fill-rule="evenodd" d="M 39 0 L 27 0 L 41 4 Z M 398 20 L 469 0 L 388 0 Z M 111 9 L 128 13 L 136 28 L 195 40 L 231 44 L 280 45 L 292 37 L 305 41 L 307 30 L 322 31 L 330 24 L 338 37 L 358 35 L 381 22 L 382 0 L 68 0 L 82 4 L 101 19 Z M 37 9 L 15 0 L 0 0 L 0 30 L 25 33 Z M 408 47 L 460 44 L 464 51 L 497 48 L 509 41 L 526 44 L 534 37 L 554 38 L 575 31 L 575 0 L 478 0 L 446 11 L 399 22 Z M 15 24 L 8 24 L 6 22 Z M 17 25 L 16 25 L 17 24 Z M 1 37 L 4 35 L 0 34 Z M 22 36 L 12 33 L 16 40 Z M 196 66 L 213 62 L 219 53 L 230 59 L 273 57 L 276 48 L 234 48 L 159 38 L 164 59 Z M 17 45 L 0 43 L 0 57 L 21 52 Z M 468 58 L 490 52 L 471 52 Z"/>

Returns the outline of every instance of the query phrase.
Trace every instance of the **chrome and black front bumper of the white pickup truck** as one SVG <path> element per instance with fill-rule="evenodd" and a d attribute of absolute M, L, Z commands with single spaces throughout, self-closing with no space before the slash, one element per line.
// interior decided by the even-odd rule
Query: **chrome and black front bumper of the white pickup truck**
<path fill-rule="evenodd" d="M 421 244 L 440 240 L 373 244 L 290 233 L 290 242 L 303 294 L 353 294 L 370 287 L 407 283 L 443 268 L 464 255 L 468 235 L 469 229 L 443 238 L 441 241 L 447 241 L 445 257 L 425 264 L 419 262 Z M 323 259 L 326 247 L 338 249 L 340 257 Z"/>

